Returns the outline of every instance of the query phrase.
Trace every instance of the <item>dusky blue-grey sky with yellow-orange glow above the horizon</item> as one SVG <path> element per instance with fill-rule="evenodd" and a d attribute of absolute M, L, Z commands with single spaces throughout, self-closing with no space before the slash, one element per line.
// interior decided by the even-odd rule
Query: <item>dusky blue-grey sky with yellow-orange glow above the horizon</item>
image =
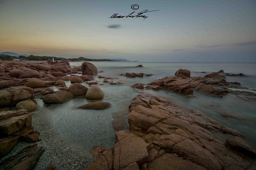
<path fill-rule="evenodd" d="M 111 18 L 115 13 L 125 17 Z M 6 51 L 256 62 L 256 0 L 0 0 L 0 52 Z"/>

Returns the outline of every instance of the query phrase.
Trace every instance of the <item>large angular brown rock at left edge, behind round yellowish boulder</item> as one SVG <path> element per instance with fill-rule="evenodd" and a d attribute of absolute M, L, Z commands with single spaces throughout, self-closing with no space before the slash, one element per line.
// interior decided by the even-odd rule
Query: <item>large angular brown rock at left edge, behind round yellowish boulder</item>
<path fill-rule="evenodd" d="M 0 90 L 0 106 L 11 107 L 27 99 L 34 99 L 34 90 L 26 86 L 17 86 Z"/>

